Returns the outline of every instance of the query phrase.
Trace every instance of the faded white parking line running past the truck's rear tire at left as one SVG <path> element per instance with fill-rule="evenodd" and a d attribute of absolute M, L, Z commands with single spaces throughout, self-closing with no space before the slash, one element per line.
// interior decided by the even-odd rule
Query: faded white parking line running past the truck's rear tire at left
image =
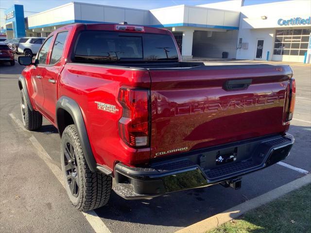
<path fill-rule="evenodd" d="M 13 114 L 9 114 L 11 118 L 14 120 L 14 122 L 22 128 L 24 131 L 27 131 L 22 122 L 17 119 Z M 27 131 L 29 132 L 29 131 Z M 65 188 L 65 183 L 63 181 L 62 171 L 59 169 L 59 167 L 54 163 L 51 156 L 48 154 L 46 150 L 41 146 L 41 144 L 38 142 L 38 140 L 35 138 L 34 135 L 32 135 L 29 138 L 30 142 L 33 144 L 35 149 L 37 149 L 38 153 L 37 155 L 46 163 L 46 165 L 51 169 L 54 176 L 57 178 L 57 180 L 63 185 Z M 83 216 L 86 217 L 86 220 L 91 225 L 91 227 L 94 229 L 96 233 L 111 233 L 110 230 L 106 227 L 102 219 L 96 214 L 95 211 L 87 211 L 82 212 Z"/>

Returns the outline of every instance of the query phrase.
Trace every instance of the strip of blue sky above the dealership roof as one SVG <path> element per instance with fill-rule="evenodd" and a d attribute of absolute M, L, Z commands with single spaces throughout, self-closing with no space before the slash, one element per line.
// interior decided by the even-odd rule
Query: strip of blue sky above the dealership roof
<path fill-rule="evenodd" d="M 0 0 L 0 27 L 4 26 L 4 10 L 14 4 L 24 5 L 25 17 L 35 13 L 49 10 L 74 0 Z M 207 3 L 219 2 L 224 0 L 76 0 L 102 5 L 122 6 L 138 9 L 155 9 L 173 5 L 202 5 Z M 245 0 L 244 5 L 269 3 L 282 0 Z"/>

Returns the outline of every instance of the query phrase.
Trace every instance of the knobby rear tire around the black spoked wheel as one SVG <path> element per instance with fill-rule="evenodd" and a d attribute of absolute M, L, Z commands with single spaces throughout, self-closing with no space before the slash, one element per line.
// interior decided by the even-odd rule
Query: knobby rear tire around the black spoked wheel
<path fill-rule="evenodd" d="M 74 165 L 71 166 L 75 167 L 74 172 L 77 171 L 75 177 L 78 178 L 79 184 L 77 186 L 79 189 L 78 194 L 75 194 L 76 196 L 74 196 L 72 191 L 70 191 L 70 175 L 68 172 L 70 168 L 67 170 L 69 160 L 67 160 L 65 156 L 65 150 L 66 147 L 68 147 L 68 144 L 71 144 L 74 150 L 74 156 L 72 156 L 74 157 Z M 97 209 L 107 204 L 110 198 L 112 178 L 103 173 L 92 172 L 89 169 L 75 125 L 69 125 L 64 130 L 64 133 L 62 134 L 60 154 L 65 187 L 72 205 L 80 211 L 88 211 Z M 67 167 L 66 170 L 65 166 Z"/>

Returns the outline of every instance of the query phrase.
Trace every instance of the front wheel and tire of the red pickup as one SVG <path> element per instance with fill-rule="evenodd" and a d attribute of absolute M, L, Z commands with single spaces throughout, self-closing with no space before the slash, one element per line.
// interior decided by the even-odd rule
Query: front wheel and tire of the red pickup
<path fill-rule="evenodd" d="M 42 126 L 42 115 L 29 108 L 23 89 L 20 91 L 20 110 L 23 125 L 27 130 L 37 130 Z"/>

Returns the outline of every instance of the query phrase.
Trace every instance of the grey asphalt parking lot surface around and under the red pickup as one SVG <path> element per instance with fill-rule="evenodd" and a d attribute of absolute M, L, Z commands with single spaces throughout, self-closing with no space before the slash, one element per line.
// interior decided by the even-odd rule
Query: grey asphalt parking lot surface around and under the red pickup
<path fill-rule="evenodd" d="M 311 171 L 311 65 L 290 65 L 297 85 L 289 131 L 295 144 L 283 162 Z M 39 131 L 26 132 L 13 119 L 21 120 L 17 78 L 22 69 L 0 65 L 0 231 L 94 232 L 28 140 L 34 137 L 60 167 L 57 130 L 44 120 Z M 152 200 L 123 200 L 112 192 L 109 204 L 95 212 L 108 228 L 105 232 L 173 233 L 304 175 L 277 164 L 244 176 L 240 190 L 214 185 Z"/>

